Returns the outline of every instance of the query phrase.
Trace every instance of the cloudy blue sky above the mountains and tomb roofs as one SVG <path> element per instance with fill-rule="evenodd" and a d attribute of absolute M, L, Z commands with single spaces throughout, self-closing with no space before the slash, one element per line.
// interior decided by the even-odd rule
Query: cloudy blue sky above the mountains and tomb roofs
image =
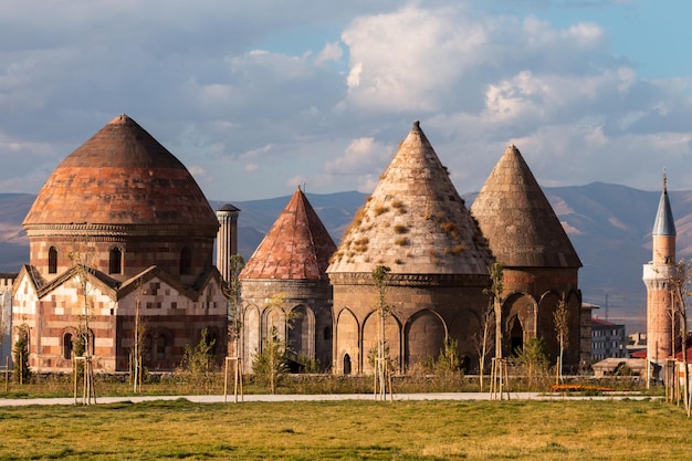
<path fill-rule="evenodd" d="M 508 144 L 543 186 L 692 189 L 692 2 L 0 4 L 0 191 L 120 113 L 209 199 L 370 191 L 415 119 L 461 193 Z"/>

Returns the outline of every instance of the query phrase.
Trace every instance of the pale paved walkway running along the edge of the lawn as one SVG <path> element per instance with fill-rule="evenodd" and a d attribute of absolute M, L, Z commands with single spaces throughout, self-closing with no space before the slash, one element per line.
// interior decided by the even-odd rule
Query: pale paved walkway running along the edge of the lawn
<path fill-rule="evenodd" d="M 439 394 L 395 394 L 395 401 L 405 400 L 490 400 L 490 392 L 439 392 Z M 642 396 L 636 392 L 617 392 L 605 396 L 575 396 L 563 394 L 542 392 L 510 392 L 510 400 L 618 400 L 618 399 L 649 399 L 651 396 Z M 223 396 L 126 396 L 126 397 L 97 397 L 97 404 L 141 402 L 154 400 L 187 399 L 199 404 L 217 404 L 227 401 L 233 404 L 233 395 Z M 242 402 L 253 401 L 334 401 L 334 400 L 374 400 L 373 394 L 323 394 L 323 395 L 245 395 Z M 387 396 L 387 400 L 390 397 Z M 505 395 L 506 399 L 506 395 Z M 81 398 L 78 402 L 81 402 Z M 40 398 L 40 399 L 0 399 L 0 407 L 21 407 L 30 405 L 74 405 L 74 398 Z"/>

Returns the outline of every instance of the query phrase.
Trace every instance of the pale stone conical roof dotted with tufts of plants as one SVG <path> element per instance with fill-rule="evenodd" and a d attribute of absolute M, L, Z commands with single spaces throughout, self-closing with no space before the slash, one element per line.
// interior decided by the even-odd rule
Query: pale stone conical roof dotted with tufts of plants
<path fill-rule="evenodd" d="M 487 274 L 492 255 L 430 142 L 413 123 L 327 273 Z"/>

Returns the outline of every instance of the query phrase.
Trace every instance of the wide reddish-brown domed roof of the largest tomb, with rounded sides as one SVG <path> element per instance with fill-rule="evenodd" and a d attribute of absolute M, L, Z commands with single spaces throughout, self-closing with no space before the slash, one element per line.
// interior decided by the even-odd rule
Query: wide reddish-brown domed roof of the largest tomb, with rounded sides
<path fill-rule="evenodd" d="M 25 227 L 190 224 L 218 220 L 187 168 L 127 115 L 119 115 L 55 168 Z"/>

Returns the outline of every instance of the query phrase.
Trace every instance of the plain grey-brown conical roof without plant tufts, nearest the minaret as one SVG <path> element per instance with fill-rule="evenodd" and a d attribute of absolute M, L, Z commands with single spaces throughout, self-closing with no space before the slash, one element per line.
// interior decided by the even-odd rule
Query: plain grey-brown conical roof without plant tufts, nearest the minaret
<path fill-rule="evenodd" d="M 490 174 L 471 213 L 505 266 L 581 266 L 553 207 L 513 145 Z"/>

